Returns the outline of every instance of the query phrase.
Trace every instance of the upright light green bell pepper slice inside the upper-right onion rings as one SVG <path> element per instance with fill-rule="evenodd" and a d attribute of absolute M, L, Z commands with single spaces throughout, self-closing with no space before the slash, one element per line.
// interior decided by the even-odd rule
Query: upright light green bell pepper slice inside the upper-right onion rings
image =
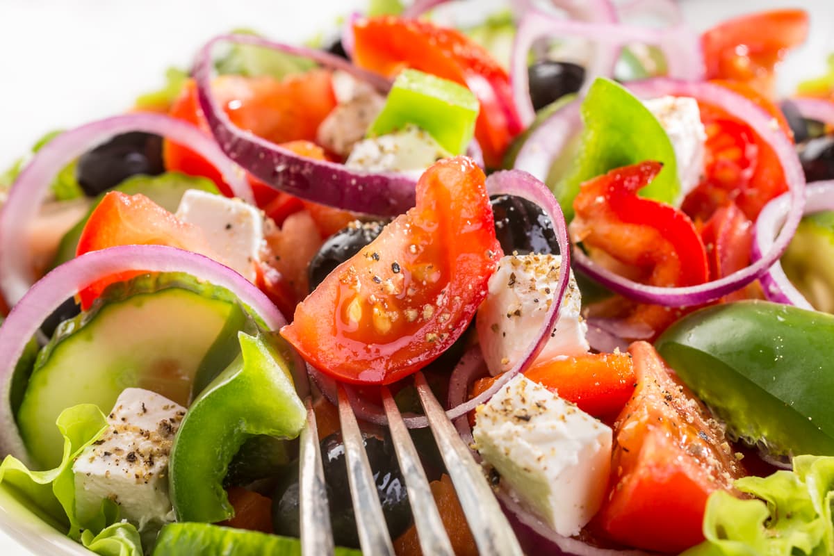
<path fill-rule="evenodd" d="M 597 78 L 582 102 L 581 114 L 585 129 L 573 167 L 550 186 L 568 222 L 574 216 L 573 201 L 583 182 L 646 160 L 663 163 L 663 169 L 641 189 L 640 196 L 675 203 L 681 192 L 675 149 L 640 99 L 610 79 Z"/>

